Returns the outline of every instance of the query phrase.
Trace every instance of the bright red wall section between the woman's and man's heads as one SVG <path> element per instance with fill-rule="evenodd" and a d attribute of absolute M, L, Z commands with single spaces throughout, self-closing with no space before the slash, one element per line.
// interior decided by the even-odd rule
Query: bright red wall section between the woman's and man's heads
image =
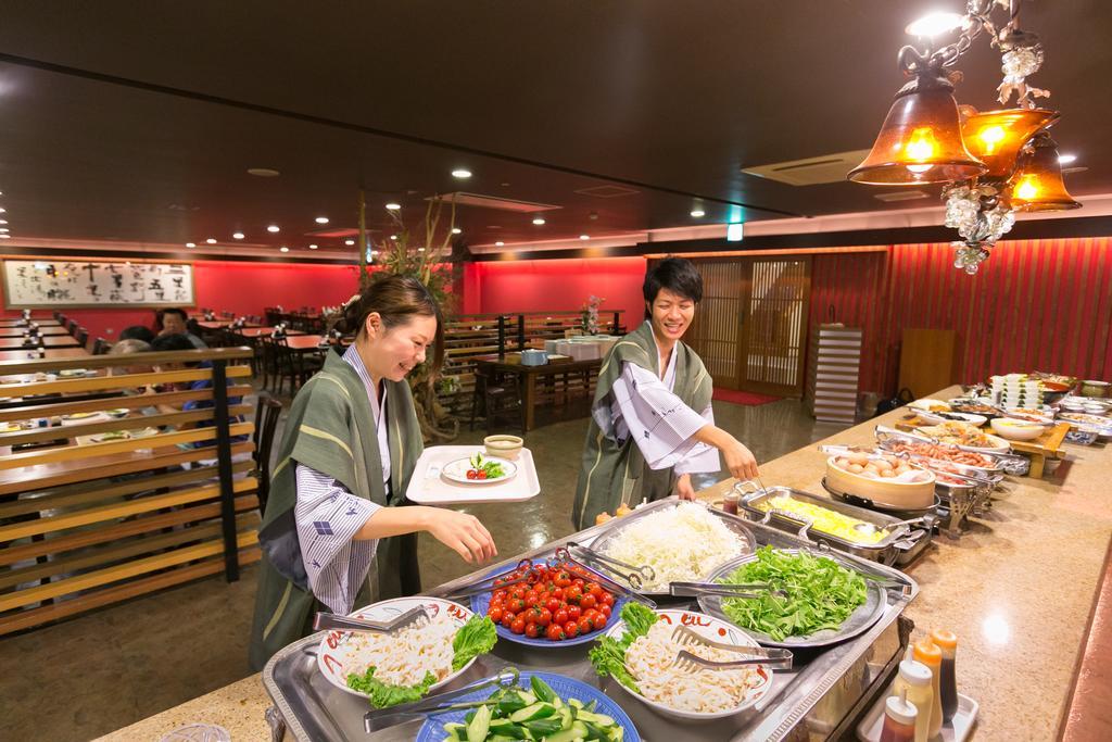
<path fill-rule="evenodd" d="M 604 313 L 625 309 L 623 321 L 633 329 L 645 315 L 644 280 L 641 257 L 470 263 L 464 273 L 463 311 L 566 311 L 595 295 L 606 299 Z"/>

